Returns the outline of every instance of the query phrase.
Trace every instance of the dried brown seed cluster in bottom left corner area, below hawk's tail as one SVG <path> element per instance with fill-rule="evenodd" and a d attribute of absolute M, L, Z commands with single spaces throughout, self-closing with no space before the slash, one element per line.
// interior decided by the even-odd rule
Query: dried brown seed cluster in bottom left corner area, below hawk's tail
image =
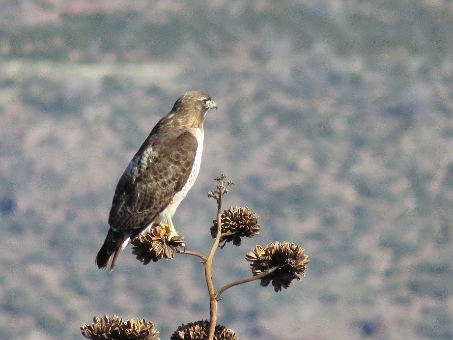
<path fill-rule="evenodd" d="M 93 340 L 160 340 L 159 332 L 151 321 L 131 319 L 123 322 L 117 315 L 95 316 L 91 325 L 81 326 L 82 334 Z"/>

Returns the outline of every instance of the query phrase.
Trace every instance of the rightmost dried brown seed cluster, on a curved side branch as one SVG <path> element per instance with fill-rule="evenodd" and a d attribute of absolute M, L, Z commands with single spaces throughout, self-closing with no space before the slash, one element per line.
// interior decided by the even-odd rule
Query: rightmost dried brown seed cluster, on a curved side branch
<path fill-rule="evenodd" d="M 294 279 L 301 280 L 307 271 L 310 261 L 304 248 L 289 242 L 274 242 L 270 246 L 255 249 L 246 254 L 250 261 L 253 275 L 264 273 L 272 268 L 273 272 L 261 278 L 261 286 L 266 287 L 271 281 L 276 292 L 288 288 Z"/>

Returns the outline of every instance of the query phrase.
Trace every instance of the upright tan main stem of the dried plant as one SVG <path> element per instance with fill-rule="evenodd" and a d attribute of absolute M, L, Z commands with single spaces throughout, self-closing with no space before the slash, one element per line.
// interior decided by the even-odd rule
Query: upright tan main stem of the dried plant
<path fill-rule="evenodd" d="M 211 251 L 209 252 L 208 258 L 204 262 L 204 274 L 206 276 L 206 284 L 209 291 L 209 306 L 210 306 L 210 315 L 209 315 L 209 332 L 208 340 L 214 339 L 214 333 L 217 323 L 217 309 L 219 306 L 219 301 L 215 298 L 215 288 L 214 283 L 212 282 L 212 259 L 216 253 L 217 248 L 219 247 L 221 230 L 222 230 L 222 197 L 225 194 L 225 188 L 222 186 L 219 188 L 219 198 L 217 200 L 217 236 L 212 245 Z"/>

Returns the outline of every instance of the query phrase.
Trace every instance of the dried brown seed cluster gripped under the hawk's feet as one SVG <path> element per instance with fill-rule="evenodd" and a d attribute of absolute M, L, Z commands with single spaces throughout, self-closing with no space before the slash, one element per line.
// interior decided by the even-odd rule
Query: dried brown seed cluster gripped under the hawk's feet
<path fill-rule="evenodd" d="M 183 236 L 173 236 L 169 240 L 169 234 L 168 225 L 152 227 L 148 234 L 139 235 L 132 240 L 132 254 L 143 264 L 156 262 L 161 258 L 172 259 L 174 252 L 184 249 L 185 245 Z"/>

